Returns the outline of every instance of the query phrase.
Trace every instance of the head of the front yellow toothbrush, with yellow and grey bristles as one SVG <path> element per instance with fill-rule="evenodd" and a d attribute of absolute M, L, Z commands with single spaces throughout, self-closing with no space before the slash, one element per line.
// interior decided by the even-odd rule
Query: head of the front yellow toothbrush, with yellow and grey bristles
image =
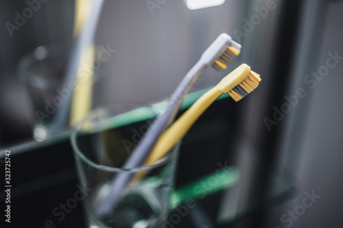
<path fill-rule="evenodd" d="M 235 71 L 226 75 L 217 86 L 223 93 L 228 93 L 237 102 L 255 90 L 260 81 L 259 74 L 251 71 L 247 64 L 241 64 Z"/>

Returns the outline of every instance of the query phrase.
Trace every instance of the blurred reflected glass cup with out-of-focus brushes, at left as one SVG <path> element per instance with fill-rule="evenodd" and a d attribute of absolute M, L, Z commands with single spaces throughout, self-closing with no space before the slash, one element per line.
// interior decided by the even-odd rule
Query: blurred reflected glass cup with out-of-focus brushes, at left
<path fill-rule="evenodd" d="M 33 137 L 38 142 L 69 130 L 71 122 L 75 121 L 71 120 L 75 118 L 72 111 L 85 112 L 84 107 L 91 109 L 101 104 L 106 95 L 101 84 L 106 83 L 102 79 L 108 76 L 106 62 L 112 53 L 106 52 L 104 46 L 95 46 L 93 55 L 85 51 L 82 56 L 86 58 L 80 60 L 78 77 L 67 79 L 70 51 L 71 45 L 66 43 L 45 45 L 19 61 L 19 76 L 25 84 L 33 115 Z M 79 99 L 75 101 L 72 98 L 78 88 L 83 94 L 79 91 Z"/>

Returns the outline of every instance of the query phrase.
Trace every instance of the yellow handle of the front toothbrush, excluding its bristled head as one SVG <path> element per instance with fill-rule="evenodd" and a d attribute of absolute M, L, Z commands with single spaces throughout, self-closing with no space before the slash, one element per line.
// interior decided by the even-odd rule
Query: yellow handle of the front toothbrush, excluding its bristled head
<path fill-rule="evenodd" d="M 201 116 L 201 114 L 213 103 L 222 92 L 217 87 L 205 92 L 196 103 L 193 103 L 189 109 L 178 118 L 158 139 L 154 149 L 150 153 L 144 165 L 152 164 L 161 159 L 175 144 L 185 136 L 189 128 Z"/>

